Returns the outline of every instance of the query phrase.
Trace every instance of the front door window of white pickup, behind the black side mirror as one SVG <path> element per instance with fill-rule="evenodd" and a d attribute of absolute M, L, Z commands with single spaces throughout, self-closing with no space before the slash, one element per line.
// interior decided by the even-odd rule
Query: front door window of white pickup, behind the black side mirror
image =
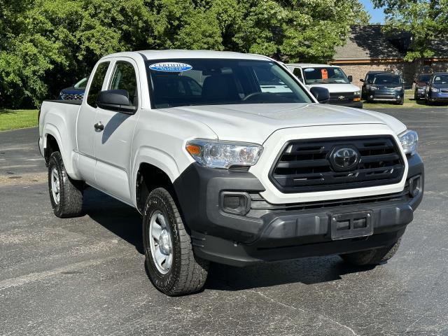
<path fill-rule="evenodd" d="M 116 62 L 109 90 L 127 90 L 132 106 L 137 105 L 137 77 L 132 64 L 125 61 Z"/>

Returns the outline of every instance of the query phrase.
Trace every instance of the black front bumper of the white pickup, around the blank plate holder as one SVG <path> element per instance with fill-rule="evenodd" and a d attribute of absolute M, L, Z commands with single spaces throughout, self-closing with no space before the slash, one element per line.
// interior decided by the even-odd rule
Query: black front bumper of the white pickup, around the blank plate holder
<path fill-rule="evenodd" d="M 230 172 L 191 165 L 174 183 L 183 218 L 190 229 L 195 254 L 228 265 L 348 253 L 393 244 L 412 221 L 423 197 L 423 162 L 408 160 L 407 179 L 420 176 L 418 193 L 358 197 L 320 203 L 268 204 L 264 188 L 248 172 Z M 408 183 L 409 184 L 409 183 Z M 223 209 L 223 192 L 248 197 L 244 215 Z M 372 235 L 333 240 L 334 214 L 369 211 Z"/>

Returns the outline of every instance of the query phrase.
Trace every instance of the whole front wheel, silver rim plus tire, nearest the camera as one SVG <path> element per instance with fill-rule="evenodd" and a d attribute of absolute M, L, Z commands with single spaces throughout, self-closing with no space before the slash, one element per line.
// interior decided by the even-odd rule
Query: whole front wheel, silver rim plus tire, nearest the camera
<path fill-rule="evenodd" d="M 193 254 L 190 235 L 165 188 L 157 188 L 148 196 L 143 237 L 148 275 L 158 290 L 176 296 L 202 289 L 209 262 Z"/>

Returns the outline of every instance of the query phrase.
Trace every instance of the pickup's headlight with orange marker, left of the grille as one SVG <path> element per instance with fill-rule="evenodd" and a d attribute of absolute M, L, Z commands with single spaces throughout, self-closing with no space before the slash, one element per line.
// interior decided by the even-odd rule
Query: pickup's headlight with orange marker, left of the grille
<path fill-rule="evenodd" d="M 188 141 L 186 144 L 187 152 L 201 165 L 225 169 L 232 166 L 255 165 L 262 149 L 258 144 L 202 139 Z"/>

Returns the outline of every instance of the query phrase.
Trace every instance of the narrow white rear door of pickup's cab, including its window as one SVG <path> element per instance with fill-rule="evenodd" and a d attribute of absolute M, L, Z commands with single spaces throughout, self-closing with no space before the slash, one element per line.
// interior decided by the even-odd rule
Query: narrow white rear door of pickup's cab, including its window
<path fill-rule="evenodd" d="M 94 167 L 96 164 L 94 153 L 94 124 L 97 116 L 97 95 L 106 85 L 106 78 L 110 61 L 99 62 L 92 71 L 92 81 L 86 98 L 80 107 L 78 121 L 76 123 L 76 141 L 78 144 L 78 169 L 83 179 L 90 184 L 94 184 Z"/>

